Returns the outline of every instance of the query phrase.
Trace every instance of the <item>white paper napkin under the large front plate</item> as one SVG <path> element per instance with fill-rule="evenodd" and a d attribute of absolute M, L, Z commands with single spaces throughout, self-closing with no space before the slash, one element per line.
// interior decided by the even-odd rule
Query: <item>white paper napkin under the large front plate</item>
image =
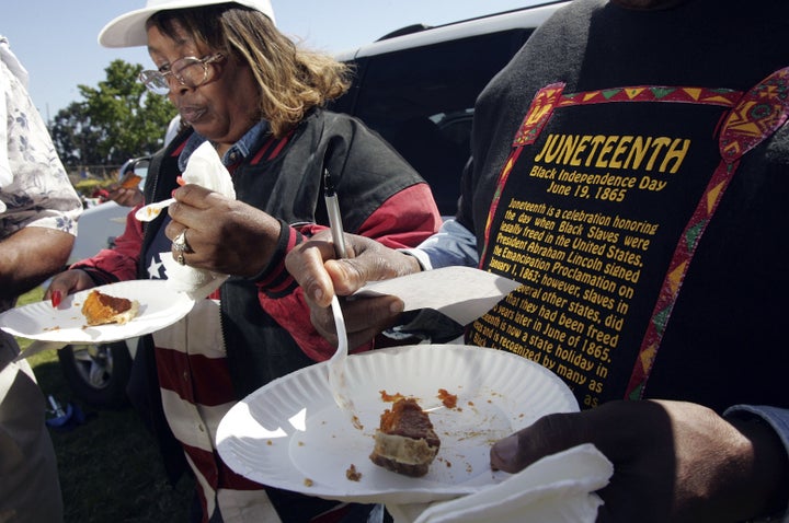
<path fill-rule="evenodd" d="M 574 446 L 529 465 L 499 485 L 430 504 L 387 505 L 395 523 L 593 523 L 595 495 L 614 465 L 594 445 Z"/>

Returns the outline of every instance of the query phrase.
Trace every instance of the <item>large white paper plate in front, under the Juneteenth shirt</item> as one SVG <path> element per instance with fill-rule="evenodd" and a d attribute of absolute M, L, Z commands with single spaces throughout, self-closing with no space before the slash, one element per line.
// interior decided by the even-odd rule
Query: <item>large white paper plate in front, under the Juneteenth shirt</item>
<path fill-rule="evenodd" d="M 221 420 L 217 446 L 238 474 L 264 485 L 357 502 L 413 503 L 454 498 L 508 475 L 490 468 L 490 446 L 550 412 L 579 409 L 553 373 L 510 352 L 461 345 L 381 349 L 347 359 L 353 426 L 332 399 L 328 367 L 318 363 L 275 380 L 236 404 Z M 438 390 L 457 395 L 446 408 Z M 402 476 L 369 460 L 386 394 L 418 398 L 441 439 L 427 475 Z M 354 465 L 362 477 L 346 477 Z"/>

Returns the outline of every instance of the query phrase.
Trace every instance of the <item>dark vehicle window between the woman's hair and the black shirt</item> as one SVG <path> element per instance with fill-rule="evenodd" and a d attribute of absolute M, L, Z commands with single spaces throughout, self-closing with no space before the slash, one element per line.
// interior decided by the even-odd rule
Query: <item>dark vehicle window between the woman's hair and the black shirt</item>
<path fill-rule="evenodd" d="M 362 58 L 352 62 L 354 85 L 332 108 L 378 131 L 431 184 L 442 214 L 453 216 L 469 158 L 477 95 L 531 31 L 510 30 Z"/>

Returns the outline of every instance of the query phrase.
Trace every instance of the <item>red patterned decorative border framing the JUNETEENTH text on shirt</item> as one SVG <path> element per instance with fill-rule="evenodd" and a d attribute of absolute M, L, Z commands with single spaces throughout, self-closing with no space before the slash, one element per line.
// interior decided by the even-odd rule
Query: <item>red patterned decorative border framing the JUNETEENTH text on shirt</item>
<path fill-rule="evenodd" d="M 644 385 L 654 364 L 658 349 L 696 247 L 736 171 L 740 159 L 787 120 L 789 114 L 789 68 L 776 71 L 745 94 L 742 91 L 729 89 L 681 86 L 627 86 L 572 94 L 564 94 L 563 90 L 563 83 L 554 83 L 541 89 L 536 94 L 515 135 L 512 144 L 513 150 L 499 175 L 493 201 L 485 222 L 480 265 L 488 253 L 493 218 L 512 167 L 521 155 L 523 148 L 536 141 L 557 108 L 617 102 L 658 102 L 718 105 L 731 109 L 720 131 L 721 161 L 674 251 L 670 269 L 661 287 L 633 365 L 626 390 L 626 397 L 638 399 L 643 395 Z"/>

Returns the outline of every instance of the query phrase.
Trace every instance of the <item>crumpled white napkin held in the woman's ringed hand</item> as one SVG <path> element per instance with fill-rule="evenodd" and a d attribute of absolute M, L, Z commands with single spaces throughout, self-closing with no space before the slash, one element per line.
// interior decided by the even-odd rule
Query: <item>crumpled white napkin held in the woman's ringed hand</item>
<path fill-rule="evenodd" d="M 199 185 L 236 199 L 236 189 L 230 173 L 222 165 L 216 149 L 209 141 L 203 142 L 195 149 L 181 177 L 187 184 Z M 168 275 L 168 287 L 186 292 L 190 298 L 195 300 L 206 298 L 228 279 L 228 275 L 179 265 L 171 253 L 161 253 L 161 260 Z"/>

